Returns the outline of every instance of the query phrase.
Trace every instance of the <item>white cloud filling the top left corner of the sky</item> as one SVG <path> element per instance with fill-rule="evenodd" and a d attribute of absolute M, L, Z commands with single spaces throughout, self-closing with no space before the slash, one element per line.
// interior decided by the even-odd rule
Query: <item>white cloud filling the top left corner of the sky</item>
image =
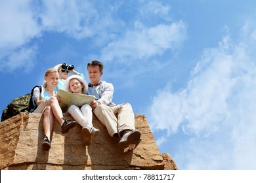
<path fill-rule="evenodd" d="M 37 46 L 30 41 L 41 36 L 41 27 L 30 1 L 5 1 L 0 6 L 0 71 L 29 72 Z"/>

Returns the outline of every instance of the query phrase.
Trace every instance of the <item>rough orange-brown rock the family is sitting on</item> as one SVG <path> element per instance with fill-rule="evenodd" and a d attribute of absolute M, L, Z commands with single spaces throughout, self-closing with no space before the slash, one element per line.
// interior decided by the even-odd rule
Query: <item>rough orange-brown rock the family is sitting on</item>
<path fill-rule="evenodd" d="M 62 134 L 60 124 L 54 122 L 51 149 L 45 151 L 43 116 L 18 114 L 0 123 L 0 169 L 178 169 L 169 154 L 160 154 L 146 117 L 135 114 L 135 122 L 142 133 L 135 150 L 119 149 L 118 141 L 93 116 L 100 133 L 90 146 L 83 144 L 80 125 Z"/>

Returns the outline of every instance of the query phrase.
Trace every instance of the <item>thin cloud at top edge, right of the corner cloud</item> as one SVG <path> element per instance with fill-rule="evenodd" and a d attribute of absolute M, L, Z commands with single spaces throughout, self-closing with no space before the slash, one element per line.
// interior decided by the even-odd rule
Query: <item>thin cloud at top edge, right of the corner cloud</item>
<path fill-rule="evenodd" d="M 47 31 L 81 39 L 95 35 L 98 14 L 88 1 L 43 1 L 41 21 Z"/>

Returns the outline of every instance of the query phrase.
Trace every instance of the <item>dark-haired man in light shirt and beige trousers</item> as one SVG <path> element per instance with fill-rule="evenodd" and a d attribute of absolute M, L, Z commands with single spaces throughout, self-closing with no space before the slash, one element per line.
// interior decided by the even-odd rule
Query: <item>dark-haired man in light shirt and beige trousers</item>
<path fill-rule="evenodd" d="M 116 105 L 112 102 L 114 86 L 100 80 L 103 75 L 103 63 L 91 61 L 87 64 L 87 71 L 90 80 L 87 94 L 95 95 L 91 107 L 98 120 L 106 126 L 111 137 L 121 138 L 118 143 L 120 148 L 125 149 L 132 144 L 137 146 L 140 142 L 140 132 L 135 130 L 133 108 L 129 103 Z"/>

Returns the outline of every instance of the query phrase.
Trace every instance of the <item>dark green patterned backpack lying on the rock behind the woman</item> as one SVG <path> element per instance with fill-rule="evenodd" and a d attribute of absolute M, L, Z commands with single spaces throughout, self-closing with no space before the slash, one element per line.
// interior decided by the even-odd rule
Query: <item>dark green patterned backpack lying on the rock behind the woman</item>
<path fill-rule="evenodd" d="M 20 97 L 16 97 L 7 105 L 7 108 L 3 110 L 1 116 L 1 122 L 11 118 L 12 116 L 16 116 L 20 114 L 20 112 L 24 112 L 26 114 L 33 112 L 37 105 L 33 102 L 33 90 L 38 87 L 40 93 L 42 92 L 42 86 L 34 86 L 30 93 L 26 95 L 22 95 Z"/>

